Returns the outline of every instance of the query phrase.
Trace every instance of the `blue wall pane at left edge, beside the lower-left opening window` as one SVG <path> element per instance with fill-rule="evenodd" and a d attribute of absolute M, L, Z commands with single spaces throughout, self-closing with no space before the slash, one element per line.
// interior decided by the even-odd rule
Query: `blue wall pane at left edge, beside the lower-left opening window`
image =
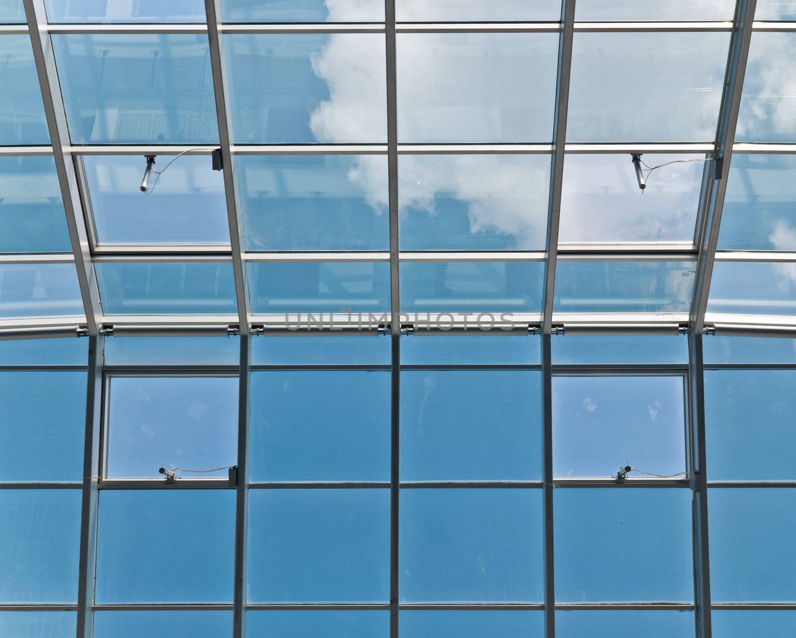
<path fill-rule="evenodd" d="M 0 480 L 83 480 L 85 372 L 0 372 Z"/>

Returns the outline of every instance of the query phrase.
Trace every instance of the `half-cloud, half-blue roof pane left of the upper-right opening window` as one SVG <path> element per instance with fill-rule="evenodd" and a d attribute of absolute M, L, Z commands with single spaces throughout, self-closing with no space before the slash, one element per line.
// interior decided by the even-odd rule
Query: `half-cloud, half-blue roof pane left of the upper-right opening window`
<path fill-rule="evenodd" d="M 544 250 L 549 155 L 400 155 L 398 171 L 403 250 Z"/>

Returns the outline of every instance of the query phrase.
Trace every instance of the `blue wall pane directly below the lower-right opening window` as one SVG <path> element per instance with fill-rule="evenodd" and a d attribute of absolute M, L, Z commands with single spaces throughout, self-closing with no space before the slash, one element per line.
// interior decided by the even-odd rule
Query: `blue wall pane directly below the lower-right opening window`
<path fill-rule="evenodd" d="M 556 601 L 693 602 L 689 489 L 557 489 L 555 505 Z"/>

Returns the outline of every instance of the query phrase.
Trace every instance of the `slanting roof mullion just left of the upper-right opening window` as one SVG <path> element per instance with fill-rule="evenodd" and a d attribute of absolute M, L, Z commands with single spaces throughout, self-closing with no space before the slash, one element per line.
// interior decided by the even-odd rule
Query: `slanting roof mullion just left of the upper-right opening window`
<path fill-rule="evenodd" d="M 544 295 L 542 297 L 542 333 L 550 334 L 552 328 L 552 302 L 556 286 L 556 255 L 561 213 L 561 189 L 564 182 L 564 144 L 567 134 L 569 103 L 569 76 L 572 71 L 572 35 L 575 25 L 575 0 L 563 0 L 561 5 L 562 30 L 558 45 L 558 78 L 556 81 L 556 119 L 553 121 L 554 146 L 550 167 L 550 193 L 548 195 L 548 226 L 544 263 Z"/>

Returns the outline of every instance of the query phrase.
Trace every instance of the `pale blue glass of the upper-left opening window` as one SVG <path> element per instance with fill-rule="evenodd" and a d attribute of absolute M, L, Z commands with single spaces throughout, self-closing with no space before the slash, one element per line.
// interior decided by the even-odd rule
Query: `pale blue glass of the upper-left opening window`
<path fill-rule="evenodd" d="M 229 243 L 224 175 L 207 156 L 183 155 L 149 191 L 139 190 L 142 156 L 84 155 L 97 243 Z M 155 159 L 164 170 L 169 155 Z"/>

